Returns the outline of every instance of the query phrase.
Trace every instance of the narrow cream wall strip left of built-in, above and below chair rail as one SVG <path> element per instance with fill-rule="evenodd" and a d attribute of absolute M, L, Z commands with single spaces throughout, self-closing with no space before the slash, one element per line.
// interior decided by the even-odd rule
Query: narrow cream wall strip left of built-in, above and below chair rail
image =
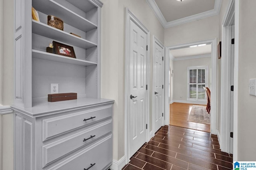
<path fill-rule="evenodd" d="M 3 4 L 1 4 L 3 3 Z M 0 0 L 0 105 L 12 105 L 14 92 L 14 1 Z M 2 47 L 2 49 L 1 49 Z M 13 115 L 0 115 L 2 170 L 13 170 Z M 0 144 L 1 144 L 0 142 Z M 0 169 L 1 169 L 0 168 Z"/>

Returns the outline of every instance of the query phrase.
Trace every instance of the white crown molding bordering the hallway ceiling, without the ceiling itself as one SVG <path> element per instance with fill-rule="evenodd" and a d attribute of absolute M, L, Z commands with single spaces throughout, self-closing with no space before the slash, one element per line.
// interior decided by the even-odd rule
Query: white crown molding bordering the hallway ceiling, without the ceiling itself
<path fill-rule="evenodd" d="M 174 20 L 174 21 L 171 21 L 171 22 L 166 22 L 162 12 L 160 11 L 160 9 L 157 6 L 155 0 L 146 0 L 146 1 L 148 2 L 150 8 L 155 13 L 158 20 L 161 22 L 162 26 L 164 28 L 170 28 L 170 27 L 173 27 L 173 26 L 178 26 L 180 24 L 185 24 L 185 23 L 200 20 L 200 19 L 203 19 L 203 18 L 206 18 L 206 17 L 218 15 L 220 13 L 220 7 L 221 7 L 221 1 L 222 0 L 215 0 L 213 10 L 209 10 L 209 11 L 206 11 L 206 12 L 202 12 L 200 14 L 196 14 L 196 15 L 185 17 L 185 18 L 181 18 L 179 20 Z"/>

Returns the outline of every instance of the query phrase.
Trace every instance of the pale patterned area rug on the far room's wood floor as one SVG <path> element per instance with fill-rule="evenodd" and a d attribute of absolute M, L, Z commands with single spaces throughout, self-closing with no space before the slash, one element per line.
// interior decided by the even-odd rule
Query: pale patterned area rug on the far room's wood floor
<path fill-rule="evenodd" d="M 188 121 L 210 125 L 210 114 L 206 111 L 206 106 L 193 105 Z"/>

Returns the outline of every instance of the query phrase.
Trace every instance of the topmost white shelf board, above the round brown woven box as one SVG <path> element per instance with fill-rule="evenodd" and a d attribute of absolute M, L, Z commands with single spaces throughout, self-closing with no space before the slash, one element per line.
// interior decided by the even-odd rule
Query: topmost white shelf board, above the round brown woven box
<path fill-rule="evenodd" d="M 94 23 L 86 20 L 84 17 L 76 14 L 54 0 L 36 0 L 32 2 L 32 6 L 36 10 L 43 12 L 46 15 L 56 16 L 62 19 L 66 24 L 78 28 L 84 32 L 97 28 Z"/>

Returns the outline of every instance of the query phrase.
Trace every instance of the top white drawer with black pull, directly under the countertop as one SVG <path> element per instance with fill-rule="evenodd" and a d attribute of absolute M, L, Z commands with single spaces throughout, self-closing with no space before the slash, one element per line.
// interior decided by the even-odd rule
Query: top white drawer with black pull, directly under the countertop
<path fill-rule="evenodd" d="M 112 105 L 42 120 L 42 140 L 112 116 Z"/>

